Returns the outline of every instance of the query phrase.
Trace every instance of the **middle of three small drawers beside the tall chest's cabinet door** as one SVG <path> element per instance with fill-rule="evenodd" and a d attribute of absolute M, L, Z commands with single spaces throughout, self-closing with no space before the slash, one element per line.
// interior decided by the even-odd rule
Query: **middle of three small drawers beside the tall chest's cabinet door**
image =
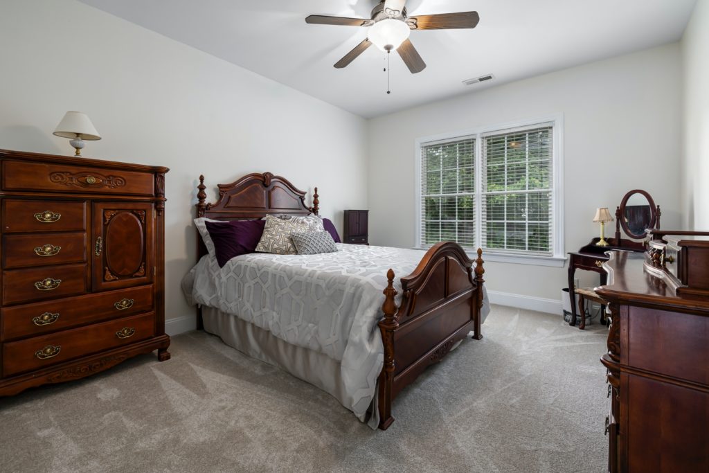
<path fill-rule="evenodd" d="M 86 233 L 4 235 L 3 267 L 58 265 L 86 261 Z"/>

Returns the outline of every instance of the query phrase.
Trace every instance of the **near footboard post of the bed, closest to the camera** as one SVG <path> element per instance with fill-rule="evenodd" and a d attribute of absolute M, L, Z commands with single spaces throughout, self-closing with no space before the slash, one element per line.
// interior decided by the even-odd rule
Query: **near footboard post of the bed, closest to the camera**
<path fill-rule="evenodd" d="M 386 272 L 386 279 L 389 283 L 384 289 L 384 304 L 381 310 L 384 311 L 384 318 L 379 321 L 381 330 L 381 341 L 384 343 L 384 367 L 379 374 L 379 428 L 386 430 L 394 421 L 391 417 L 391 389 L 394 379 L 394 330 L 398 327 L 396 317 L 396 289 L 394 289 L 394 272 L 389 269 Z"/>

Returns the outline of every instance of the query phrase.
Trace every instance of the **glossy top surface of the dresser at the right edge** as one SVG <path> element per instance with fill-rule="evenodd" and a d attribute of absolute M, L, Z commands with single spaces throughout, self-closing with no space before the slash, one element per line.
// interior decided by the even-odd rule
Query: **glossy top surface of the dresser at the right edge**
<path fill-rule="evenodd" d="M 603 299 L 658 308 L 662 306 L 703 311 L 704 315 L 709 316 L 709 297 L 676 294 L 664 279 L 647 272 L 644 268 L 644 253 L 612 251 L 608 254 L 610 260 L 603 265 L 608 272 L 608 284 L 596 288 Z"/>

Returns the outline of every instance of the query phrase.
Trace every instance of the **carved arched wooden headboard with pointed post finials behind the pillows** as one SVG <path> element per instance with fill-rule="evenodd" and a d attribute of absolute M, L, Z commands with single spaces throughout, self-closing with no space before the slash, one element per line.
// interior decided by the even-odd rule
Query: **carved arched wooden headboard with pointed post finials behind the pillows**
<path fill-rule="evenodd" d="M 306 206 L 306 193 L 294 187 L 288 179 L 270 172 L 247 174 L 231 184 L 218 184 L 219 200 L 207 204 L 204 176 L 199 177 L 197 216 L 216 220 L 245 220 L 267 215 L 318 215 L 318 188 L 313 194 L 313 206 Z"/>

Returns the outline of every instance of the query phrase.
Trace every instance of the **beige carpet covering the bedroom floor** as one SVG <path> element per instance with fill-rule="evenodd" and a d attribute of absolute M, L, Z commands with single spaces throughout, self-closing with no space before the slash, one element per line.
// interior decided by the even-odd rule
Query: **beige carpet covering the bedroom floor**
<path fill-rule="evenodd" d="M 0 399 L 3 472 L 602 472 L 605 329 L 493 306 L 370 430 L 202 332 L 79 382 Z"/>

